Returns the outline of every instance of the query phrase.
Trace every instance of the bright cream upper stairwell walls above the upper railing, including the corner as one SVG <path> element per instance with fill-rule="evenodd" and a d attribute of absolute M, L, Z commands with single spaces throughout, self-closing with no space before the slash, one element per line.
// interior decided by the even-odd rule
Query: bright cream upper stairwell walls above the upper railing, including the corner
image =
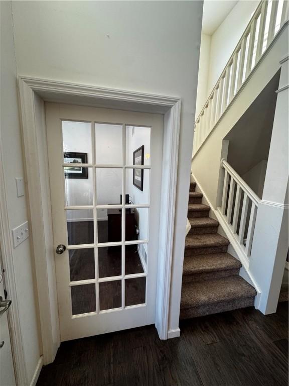
<path fill-rule="evenodd" d="M 239 1 L 209 36 L 202 34 L 196 117 L 241 38 L 258 1 Z"/>

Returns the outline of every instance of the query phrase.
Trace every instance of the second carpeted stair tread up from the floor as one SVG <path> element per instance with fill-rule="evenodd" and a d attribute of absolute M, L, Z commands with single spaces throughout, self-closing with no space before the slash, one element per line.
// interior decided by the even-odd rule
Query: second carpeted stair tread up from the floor
<path fill-rule="evenodd" d="M 242 264 L 229 253 L 187 256 L 184 258 L 183 274 L 191 275 L 220 270 L 239 269 Z"/>

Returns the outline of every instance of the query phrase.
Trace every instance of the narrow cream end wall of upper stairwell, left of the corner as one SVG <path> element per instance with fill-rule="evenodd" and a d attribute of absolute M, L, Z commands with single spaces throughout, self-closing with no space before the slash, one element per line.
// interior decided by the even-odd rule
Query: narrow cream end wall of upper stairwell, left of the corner
<path fill-rule="evenodd" d="M 208 99 L 208 74 L 210 67 L 211 36 L 202 33 L 200 48 L 200 64 L 198 73 L 198 91 L 196 102 L 196 117 L 200 114 Z"/>

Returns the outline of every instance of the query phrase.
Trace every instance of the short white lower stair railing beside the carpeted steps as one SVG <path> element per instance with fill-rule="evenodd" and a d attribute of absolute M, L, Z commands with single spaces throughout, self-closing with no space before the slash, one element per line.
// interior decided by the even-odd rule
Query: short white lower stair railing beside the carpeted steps
<path fill-rule="evenodd" d="M 221 167 L 225 173 L 222 204 L 217 210 L 248 259 L 260 198 L 225 159 L 221 160 Z"/>

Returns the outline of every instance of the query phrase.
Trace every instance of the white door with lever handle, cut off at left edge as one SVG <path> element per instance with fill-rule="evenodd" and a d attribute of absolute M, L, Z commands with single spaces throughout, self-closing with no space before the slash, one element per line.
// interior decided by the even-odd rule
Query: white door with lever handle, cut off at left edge
<path fill-rule="evenodd" d="M 6 299 L 7 297 L 4 288 L 4 277 L 1 264 L 0 249 L 0 385 L 14 386 L 16 382 L 7 318 L 7 311 L 11 302 Z"/>

